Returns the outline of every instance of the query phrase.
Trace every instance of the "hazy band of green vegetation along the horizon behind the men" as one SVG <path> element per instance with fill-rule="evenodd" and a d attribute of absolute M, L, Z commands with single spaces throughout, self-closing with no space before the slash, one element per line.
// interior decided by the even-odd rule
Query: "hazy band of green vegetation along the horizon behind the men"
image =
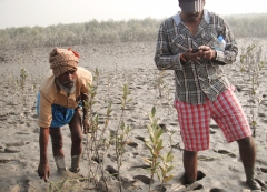
<path fill-rule="evenodd" d="M 267 13 L 224 16 L 236 38 L 266 38 Z M 90 20 L 83 23 L 49 27 L 21 27 L 0 30 L 0 49 L 34 47 L 68 47 L 88 43 L 156 41 L 164 19 L 130 19 L 128 21 Z"/>

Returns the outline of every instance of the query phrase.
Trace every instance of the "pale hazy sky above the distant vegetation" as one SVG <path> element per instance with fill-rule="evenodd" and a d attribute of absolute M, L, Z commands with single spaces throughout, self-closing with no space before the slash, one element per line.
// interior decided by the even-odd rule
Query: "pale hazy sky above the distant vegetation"
<path fill-rule="evenodd" d="M 267 12 L 266 0 L 206 0 L 216 13 Z M 81 23 L 92 19 L 164 19 L 179 11 L 178 0 L 0 0 L 0 29 Z"/>

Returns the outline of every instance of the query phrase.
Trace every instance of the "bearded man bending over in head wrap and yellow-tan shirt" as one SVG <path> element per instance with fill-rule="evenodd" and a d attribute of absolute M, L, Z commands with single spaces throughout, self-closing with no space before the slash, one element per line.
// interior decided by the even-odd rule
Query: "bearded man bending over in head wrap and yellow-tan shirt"
<path fill-rule="evenodd" d="M 83 133 L 89 127 L 88 111 L 85 101 L 88 100 L 89 84 L 92 75 L 89 71 L 78 67 L 79 54 L 71 49 L 55 48 L 50 53 L 49 62 L 52 69 L 38 92 L 37 113 L 40 127 L 40 163 L 39 176 L 47 182 L 50 175 L 47 146 L 49 134 L 52 142 L 52 153 L 58 171 L 66 171 L 63 142 L 60 127 L 69 125 L 71 133 L 71 168 L 79 171 L 82 152 Z"/>

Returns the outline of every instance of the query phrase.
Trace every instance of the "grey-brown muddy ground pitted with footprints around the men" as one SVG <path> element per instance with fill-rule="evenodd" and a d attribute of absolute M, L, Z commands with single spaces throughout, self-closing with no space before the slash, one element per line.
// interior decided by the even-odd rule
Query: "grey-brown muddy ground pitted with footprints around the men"
<path fill-rule="evenodd" d="M 247 40 L 238 40 L 244 47 Z M 249 191 L 245 183 L 245 173 L 240 162 L 236 142 L 227 143 L 220 129 L 210 122 L 210 149 L 199 152 L 199 178 L 192 185 L 185 185 L 182 180 L 182 142 L 179 135 L 177 113 L 174 102 L 172 71 L 165 71 L 162 97 L 159 97 L 157 80 L 159 71 L 154 63 L 155 42 L 119 43 L 119 44 L 88 44 L 73 47 L 81 54 L 80 65 L 93 71 L 100 71 L 99 87 L 95 111 L 100 119 L 105 119 L 107 101 L 113 101 L 113 112 L 107 132 L 118 127 L 118 98 L 121 95 L 121 84 L 128 83 L 134 99 L 125 113 L 126 122 L 132 128 L 130 145 L 126 145 L 121 166 L 121 178 L 125 191 L 148 191 L 149 172 L 144 158 L 149 158 L 149 150 L 144 143 L 148 138 L 148 113 L 155 105 L 159 123 L 165 128 L 162 154 L 172 150 L 175 155 L 171 171 L 175 178 L 168 182 L 166 191 Z M 36 48 L 27 50 L 0 50 L 0 191 L 1 192 L 33 192 L 49 191 L 50 185 L 60 185 L 65 176 L 57 173 L 51 145 L 49 143 L 49 163 L 51 176 L 44 183 L 38 178 L 39 163 L 39 128 L 36 123 L 36 93 L 42 75 L 49 70 L 48 55 L 52 48 Z M 21 69 L 26 70 L 27 82 L 24 91 L 20 89 Z M 265 68 L 261 72 L 266 77 Z M 238 87 L 237 95 L 248 112 L 248 82 L 243 80 L 238 64 L 225 67 L 230 81 Z M 265 95 L 260 109 L 255 142 L 257 144 L 256 178 L 263 186 L 267 185 L 267 79 L 261 80 L 260 93 Z M 100 124 L 102 125 L 102 124 Z M 70 133 L 68 127 L 62 128 L 67 166 L 70 166 Z M 170 139 L 170 133 L 174 133 Z M 83 137 L 86 148 L 88 138 Z M 134 143 L 134 144 L 132 144 Z M 117 170 L 113 145 L 105 155 L 105 174 L 108 176 L 109 191 L 119 191 L 118 181 L 111 176 Z M 88 160 L 85 154 L 79 175 L 68 178 L 61 191 L 96 191 L 88 181 L 80 180 L 88 175 Z M 152 189 L 158 189 L 160 182 L 157 176 Z M 99 185 L 101 189 L 101 185 Z M 266 188 L 267 189 L 267 188 Z M 57 191 L 53 188 L 53 191 Z M 100 190 L 101 191 L 101 190 Z M 103 190 L 102 190 L 103 191 Z"/>

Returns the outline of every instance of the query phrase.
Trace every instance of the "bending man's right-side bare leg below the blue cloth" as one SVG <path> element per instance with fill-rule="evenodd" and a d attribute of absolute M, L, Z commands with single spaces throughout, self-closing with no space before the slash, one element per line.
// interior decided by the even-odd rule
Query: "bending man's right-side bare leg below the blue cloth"
<path fill-rule="evenodd" d="M 73 118 L 69 122 L 71 133 L 71 172 L 79 172 L 80 156 L 82 152 L 82 127 L 81 127 L 81 111 L 76 110 Z"/>

